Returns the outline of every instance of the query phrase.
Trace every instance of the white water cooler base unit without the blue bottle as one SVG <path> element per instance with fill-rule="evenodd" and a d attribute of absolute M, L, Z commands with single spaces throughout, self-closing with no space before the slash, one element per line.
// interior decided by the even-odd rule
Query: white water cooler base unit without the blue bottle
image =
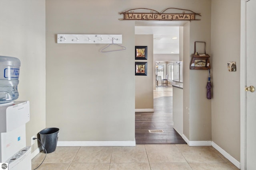
<path fill-rule="evenodd" d="M 31 170 L 31 148 L 26 147 L 29 101 L 0 104 L 0 162 L 8 170 Z"/>

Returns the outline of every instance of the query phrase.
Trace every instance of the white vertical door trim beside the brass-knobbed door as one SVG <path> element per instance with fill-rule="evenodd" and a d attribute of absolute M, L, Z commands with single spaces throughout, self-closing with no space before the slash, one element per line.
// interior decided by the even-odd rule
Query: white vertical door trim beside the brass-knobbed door
<path fill-rule="evenodd" d="M 240 25 L 240 169 L 246 170 L 246 2 L 241 0 Z"/>

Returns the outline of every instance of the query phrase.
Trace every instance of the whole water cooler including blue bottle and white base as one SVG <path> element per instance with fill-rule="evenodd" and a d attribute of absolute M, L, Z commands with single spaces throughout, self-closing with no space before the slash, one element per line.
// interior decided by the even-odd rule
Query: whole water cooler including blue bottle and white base
<path fill-rule="evenodd" d="M 26 147 L 29 101 L 14 102 L 19 75 L 20 60 L 0 56 L 0 162 L 8 163 L 8 170 L 31 170 L 31 148 Z"/>

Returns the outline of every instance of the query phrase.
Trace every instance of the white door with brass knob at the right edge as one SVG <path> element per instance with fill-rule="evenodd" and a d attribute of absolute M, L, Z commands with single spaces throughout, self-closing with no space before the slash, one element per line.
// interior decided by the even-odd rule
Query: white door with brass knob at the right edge
<path fill-rule="evenodd" d="M 256 0 L 246 2 L 246 81 L 245 86 L 256 87 Z M 246 102 L 246 158 L 247 170 L 256 169 L 256 91 L 245 94 Z"/>

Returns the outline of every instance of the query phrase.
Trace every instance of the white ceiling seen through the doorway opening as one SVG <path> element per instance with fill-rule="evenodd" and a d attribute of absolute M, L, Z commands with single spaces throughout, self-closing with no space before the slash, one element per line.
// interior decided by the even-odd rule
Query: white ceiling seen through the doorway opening
<path fill-rule="evenodd" d="M 154 54 L 180 53 L 178 26 L 135 26 L 135 34 L 153 34 Z"/>

